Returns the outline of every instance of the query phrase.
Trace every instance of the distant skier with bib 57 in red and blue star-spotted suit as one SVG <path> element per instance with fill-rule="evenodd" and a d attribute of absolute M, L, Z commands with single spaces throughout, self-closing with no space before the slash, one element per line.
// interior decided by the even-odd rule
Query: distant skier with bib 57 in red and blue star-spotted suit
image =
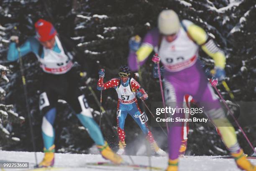
<path fill-rule="evenodd" d="M 136 123 L 140 126 L 143 133 L 146 135 L 146 139 L 151 144 L 151 148 L 159 155 L 165 156 L 166 153 L 158 147 L 156 141 L 148 126 L 146 124 L 148 118 L 145 112 L 141 112 L 136 95 L 142 100 L 148 98 L 148 94 L 145 90 L 136 82 L 135 79 L 130 77 L 131 71 L 127 65 L 123 65 L 119 69 L 118 75 L 120 77 L 110 79 L 108 82 L 103 83 L 103 78 L 105 75 L 105 70 L 101 69 L 99 71 L 99 81 L 97 84 L 98 90 L 105 90 L 109 88 L 114 88 L 118 93 L 118 107 L 117 107 L 117 121 L 118 121 L 118 138 L 119 138 L 119 150 L 118 154 L 122 155 L 125 153 L 125 131 L 124 124 L 127 114 L 131 115 Z"/>

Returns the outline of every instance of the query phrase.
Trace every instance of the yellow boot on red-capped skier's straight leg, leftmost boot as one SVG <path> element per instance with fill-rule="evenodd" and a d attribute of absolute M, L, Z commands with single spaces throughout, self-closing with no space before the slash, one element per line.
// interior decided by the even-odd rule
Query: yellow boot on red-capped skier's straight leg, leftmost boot
<path fill-rule="evenodd" d="M 55 145 L 52 145 L 48 150 L 44 148 L 44 159 L 38 164 L 38 167 L 52 167 L 54 165 Z"/>

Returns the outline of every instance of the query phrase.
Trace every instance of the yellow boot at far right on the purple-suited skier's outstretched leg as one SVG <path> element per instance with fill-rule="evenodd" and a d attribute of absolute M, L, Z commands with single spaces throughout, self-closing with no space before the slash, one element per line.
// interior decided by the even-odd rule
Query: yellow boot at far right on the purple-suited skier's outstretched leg
<path fill-rule="evenodd" d="M 231 153 L 231 155 L 235 158 L 236 165 L 241 170 L 256 171 L 256 166 L 254 166 L 250 161 L 247 160 L 242 149 L 239 150 L 237 153 Z"/>

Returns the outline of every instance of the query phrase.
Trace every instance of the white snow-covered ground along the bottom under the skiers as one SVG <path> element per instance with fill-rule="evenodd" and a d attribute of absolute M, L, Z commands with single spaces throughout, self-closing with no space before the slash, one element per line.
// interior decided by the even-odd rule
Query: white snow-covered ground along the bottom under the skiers
<path fill-rule="evenodd" d="M 43 153 L 37 153 L 38 160 L 41 160 Z M 148 165 L 147 156 L 131 156 L 135 164 Z M 216 156 L 187 156 L 180 158 L 179 171 L 240 171 L 235 165 L 233 159 L 213 158 Z M 129 160 L 128 156 L 123 156 L 125 161 Z M 166 168 L 167 157 L 151 157 L 152 166 Z M 35 164 L 34 153 L 16 152 L 16 151 L 0 151 L 0 162 L 29 162 L 32 168 Z M 59 171 L 133 171 L 133 168 L 116 167 L 116 166 L 90 166 L 86 163 L 106 161 L 100 155 L 95 154 L 63 154 L 56 153 L 55 166 L 60 167 Z M 256 164 L 256 160 L 251 160 Z M 1 170 L 1 168 L 0 168 Z M 2 169 L 1 171 L 22 171 L 26 169 Z M 141 169 L 141 171 L 146 169 Z"/>

